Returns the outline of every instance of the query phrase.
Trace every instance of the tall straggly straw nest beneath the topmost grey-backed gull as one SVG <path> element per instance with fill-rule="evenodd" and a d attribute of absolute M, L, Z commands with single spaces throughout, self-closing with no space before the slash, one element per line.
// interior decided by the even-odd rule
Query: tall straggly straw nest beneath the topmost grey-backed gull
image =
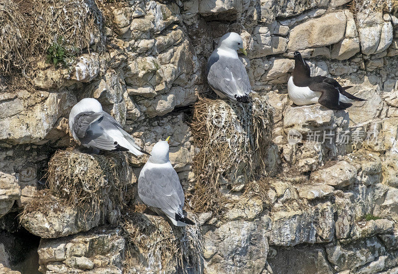
<path fill-rule="evenodd" d="M 192 122 L 200 149 L 193 161 L 198 181 L 190 205 L 195 212 L 219 213 L 226 199 L 220 185 L 238 191 L 265 174 L 273 127 L 273 110 L 265 96 L 255 94 L 248 104 L 199 99 Z"/>

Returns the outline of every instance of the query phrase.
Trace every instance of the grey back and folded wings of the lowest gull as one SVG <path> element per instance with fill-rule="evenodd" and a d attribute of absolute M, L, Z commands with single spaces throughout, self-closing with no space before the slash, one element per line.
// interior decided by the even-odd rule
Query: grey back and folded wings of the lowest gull
<path fill-rule="evenodd" d="M 152 168 L 140 174 L 138 194 L 148 206 L 160 208 L 167 215 L 175 218 L 182 215 L 184 190 L 173 168 Z"/>

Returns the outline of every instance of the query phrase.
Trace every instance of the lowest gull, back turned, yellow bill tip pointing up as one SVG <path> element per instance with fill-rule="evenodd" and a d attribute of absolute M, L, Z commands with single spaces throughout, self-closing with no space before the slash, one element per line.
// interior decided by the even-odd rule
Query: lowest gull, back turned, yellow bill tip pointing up
<path fill-rule="evenodd" d="M 138 196 L 158 215 L 166 215 L 174 225 L 195 224 L 183 212 L 184 190 L 169 160 L 169 137 L 157 142 L 138 178 Z"/>

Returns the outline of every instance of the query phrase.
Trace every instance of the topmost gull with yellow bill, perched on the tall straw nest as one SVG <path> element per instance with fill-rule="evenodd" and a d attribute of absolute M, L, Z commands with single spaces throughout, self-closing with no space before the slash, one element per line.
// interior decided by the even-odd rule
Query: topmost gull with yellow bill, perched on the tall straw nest
<path fill-rule="evenodd" d="M 211 89 L 222 99 L 229 98 L 234 102 L 247 103 L 252 88 L 237 50 L 247 55 L 239 34 L 228 32 L 220 38 L 218 47 L 207 60 L 207 81 Z"/>

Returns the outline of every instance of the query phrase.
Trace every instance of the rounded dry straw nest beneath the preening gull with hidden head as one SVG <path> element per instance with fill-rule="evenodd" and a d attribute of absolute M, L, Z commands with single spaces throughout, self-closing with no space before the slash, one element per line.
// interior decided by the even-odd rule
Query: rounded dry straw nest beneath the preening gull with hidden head
<path fill-rule="evenodd" d="M 47 184 L 51 194 L 71 206 L 92 204 L 96 211 L 109 199 L 124 205 L 126 185 L 131 180 L 123 153 L 91 155 L 57 151 L 48 163 Z"/>

